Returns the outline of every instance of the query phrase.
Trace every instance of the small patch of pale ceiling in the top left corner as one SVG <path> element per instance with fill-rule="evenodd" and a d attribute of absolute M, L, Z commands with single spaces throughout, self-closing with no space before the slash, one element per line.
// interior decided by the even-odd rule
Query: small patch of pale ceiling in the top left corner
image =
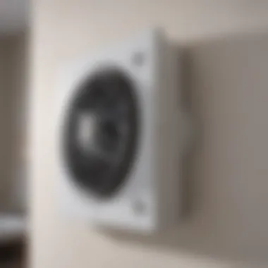
<path fill-rule="evenodd" d="M 27 22 L 28 0 L 0 0 L 0 34 L 20 32 Z"/>

